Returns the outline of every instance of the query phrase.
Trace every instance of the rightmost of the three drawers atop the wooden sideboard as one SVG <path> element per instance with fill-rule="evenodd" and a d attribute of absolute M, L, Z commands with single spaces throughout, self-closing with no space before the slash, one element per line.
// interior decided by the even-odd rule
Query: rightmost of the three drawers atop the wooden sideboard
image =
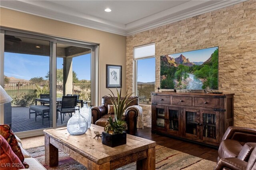
<path fill-rule="evenodd" d="M 219 99 L 195 97 L 196 107 L 219 108 Z"/>

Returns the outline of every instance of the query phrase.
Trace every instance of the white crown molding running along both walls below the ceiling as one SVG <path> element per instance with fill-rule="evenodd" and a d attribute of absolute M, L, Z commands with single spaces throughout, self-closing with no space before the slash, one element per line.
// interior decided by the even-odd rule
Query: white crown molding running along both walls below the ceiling
<path fill-rule="evenodd" d="M 206 12 L 211 12 L 213 10 L 218 10 L 220 8 L 244 1 L 246 0 L 189 1 L 146 18 L 136 20 L 129 24 L 120 24 L 103 20 L 101 18 L 83 14 L 75 10 L 70 10 L 64 6 L 56 6 L 56 4 L 48 1 L 2 1 L 0 7 L 122 36 L 131 36 L 133 34 L 204 14 Z"/>

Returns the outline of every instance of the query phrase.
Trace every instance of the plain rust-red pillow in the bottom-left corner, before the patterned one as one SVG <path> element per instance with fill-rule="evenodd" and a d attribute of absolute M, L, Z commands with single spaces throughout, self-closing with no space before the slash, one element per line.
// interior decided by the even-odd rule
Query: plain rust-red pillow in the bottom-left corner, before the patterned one
<path fill-rule="evenodd" d="M 0 135 L 0 160 L 1 170 L 19 170 L 25 168 L 2 135 Z"/>

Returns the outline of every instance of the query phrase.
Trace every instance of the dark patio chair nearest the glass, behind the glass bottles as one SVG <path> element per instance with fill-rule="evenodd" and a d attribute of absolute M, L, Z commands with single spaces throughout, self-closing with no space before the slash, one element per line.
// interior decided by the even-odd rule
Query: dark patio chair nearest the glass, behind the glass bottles
<path fill-rule="evenodd" d="M 60 112 L 61 124 L 64 121 L 64 114 L 66 113 L 71 114 L 70 117 L 72 117 L 72 113 L 75 112 L 76 101 L 77 101 L 76 96 L 62 96 L 61 106 L 57 107 L 57 112 Z M 63 121 L 62 121 L 62 114 L 63 114 Z M 58 119 L 58 114 L 57 114 L 57 119 Z"/>

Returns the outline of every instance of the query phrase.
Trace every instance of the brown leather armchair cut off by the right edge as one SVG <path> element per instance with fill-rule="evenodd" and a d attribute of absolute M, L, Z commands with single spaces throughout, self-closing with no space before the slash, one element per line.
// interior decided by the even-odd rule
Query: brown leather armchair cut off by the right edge
<path fill-rule="evenodd" d="M 228 127 L 218 149 L 218 161 L 222 158 L 238 158 L 248 161 L 256 147 L 256 129 Z"/>

